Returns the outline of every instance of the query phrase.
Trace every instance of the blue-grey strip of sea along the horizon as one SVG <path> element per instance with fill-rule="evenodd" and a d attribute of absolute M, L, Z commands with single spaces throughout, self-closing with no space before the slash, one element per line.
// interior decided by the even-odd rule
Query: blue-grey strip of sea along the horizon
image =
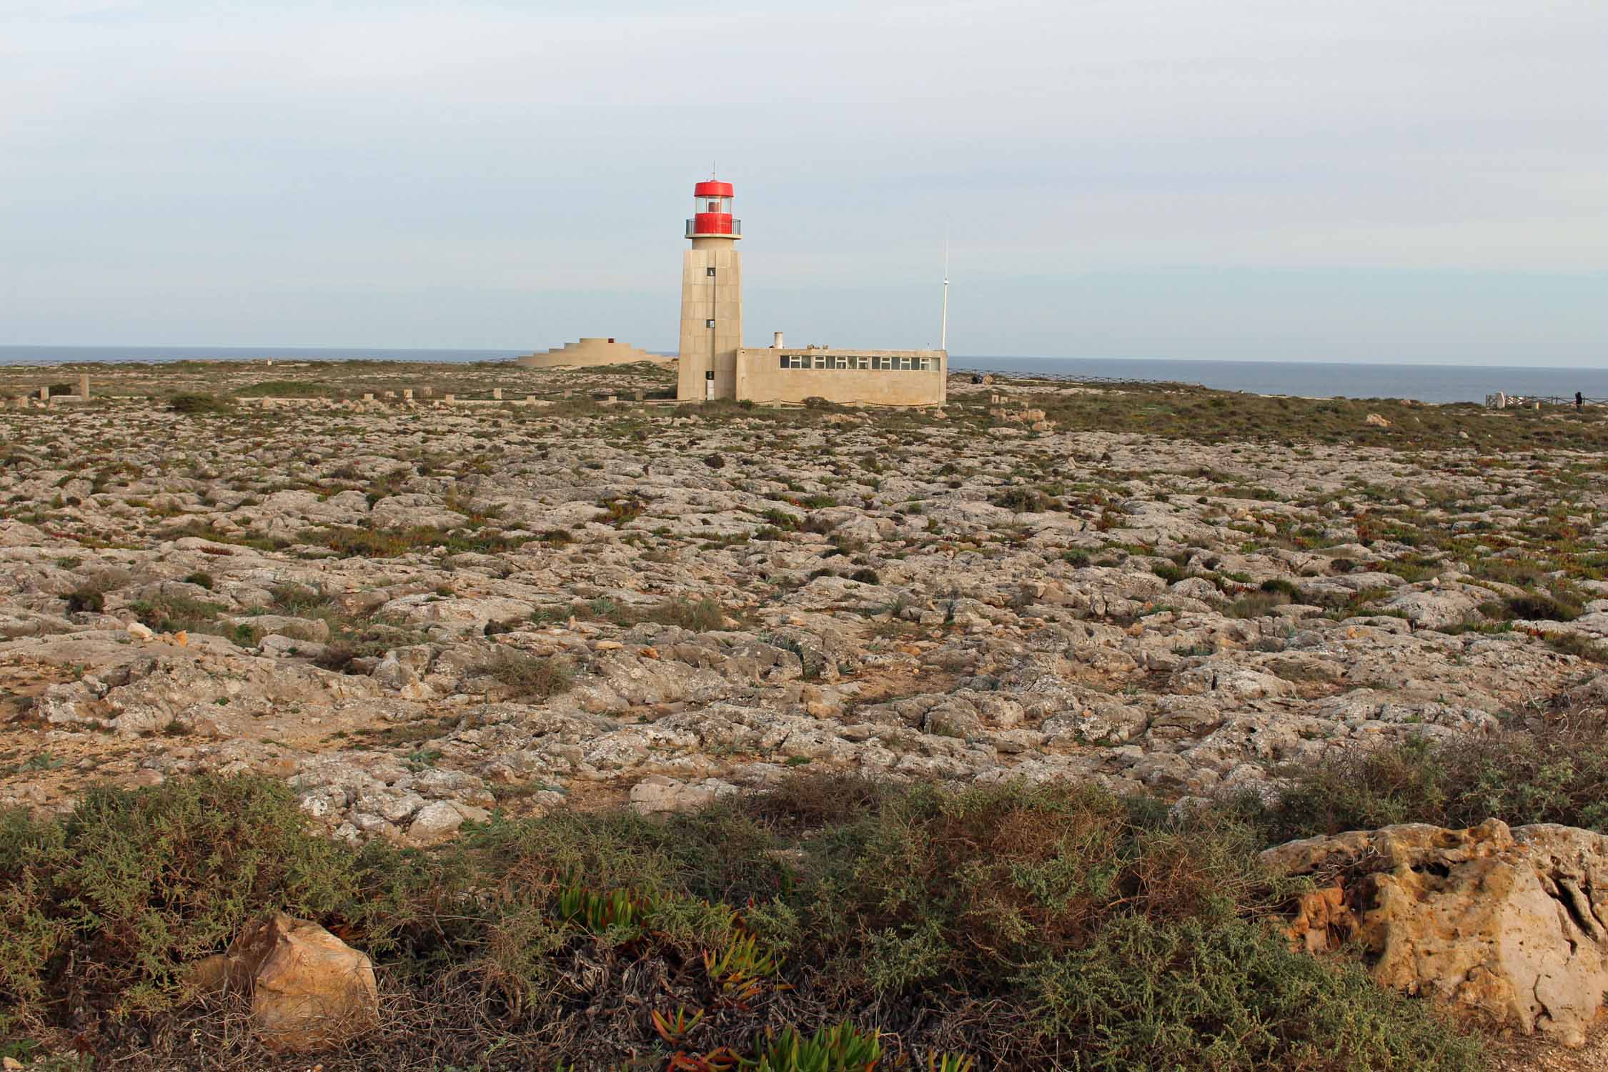
<path fill-rule="evenodd" d="M 363 347 L 198 347 L 198 346 L 0 346 L 0 365 L 183 360 L 373 360 L 500 362 L 529 350 L 396 350 Z M 987 357 L 950 354 L 952 371 L 1034 373 L 1089 379 L 1150 379 L 1220 391 L 1309 399 L 1417 399 L 1484 402 L 1486 395 L 1608 397 L 1608 368 L 1542 365 L 1370 365 L 1338 362 L 1190 362 L 1098 357 Z"/>

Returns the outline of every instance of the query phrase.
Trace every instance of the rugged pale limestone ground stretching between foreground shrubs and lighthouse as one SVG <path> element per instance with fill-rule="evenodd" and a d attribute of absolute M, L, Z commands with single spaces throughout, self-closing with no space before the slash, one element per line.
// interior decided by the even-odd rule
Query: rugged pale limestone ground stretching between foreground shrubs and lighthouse
<path fill-rule="evenodd" d="M 511 366 L 402 405 L 360 395 L 466 373 L 362 365 L 185 370 L 225 402 L 178 413 L 138 374 L 0 411 L 0 805 L 252 770 L 425 844 L 804 765 L 1182 799 L 1608 691 L 1589 415 Z"/>

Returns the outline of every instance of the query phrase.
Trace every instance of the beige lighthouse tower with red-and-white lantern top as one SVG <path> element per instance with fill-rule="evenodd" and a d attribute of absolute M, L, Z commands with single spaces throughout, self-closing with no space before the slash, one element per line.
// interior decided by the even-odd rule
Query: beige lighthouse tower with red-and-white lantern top
<path fill-rule="evenodd" d="M 732 183 L 693 186 L 691 249 L 682 254 L 682 349 L 675 397 L 683 402 L 736 397 L 736 350 L 743 346 L 743 262 L 732 219 Z"/>

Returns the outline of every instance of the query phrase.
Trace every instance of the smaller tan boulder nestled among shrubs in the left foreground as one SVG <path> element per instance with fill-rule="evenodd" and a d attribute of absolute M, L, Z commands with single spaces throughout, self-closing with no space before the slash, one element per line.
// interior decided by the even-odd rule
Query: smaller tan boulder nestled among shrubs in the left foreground
<path fill-rule="evenodd" d="M 246 926 L 228 953 L 198 964 L 193 977 L 201 988 L 249 995 L 251 1024 L 270 1049 L 339 1046 L 379 1019 L 368 956 L 285 913 Z"/>

